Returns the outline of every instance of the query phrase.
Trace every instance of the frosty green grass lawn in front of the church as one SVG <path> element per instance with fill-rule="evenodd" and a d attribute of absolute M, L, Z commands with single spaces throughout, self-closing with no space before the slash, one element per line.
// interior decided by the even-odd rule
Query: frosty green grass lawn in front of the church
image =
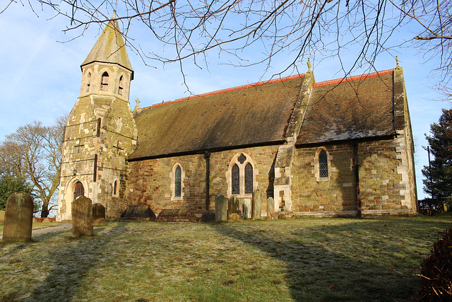
<path fill-rule="evenodd" d="M 409 301 L 451 216 L 110 222 L 0 245 L 0 301 Z"/>

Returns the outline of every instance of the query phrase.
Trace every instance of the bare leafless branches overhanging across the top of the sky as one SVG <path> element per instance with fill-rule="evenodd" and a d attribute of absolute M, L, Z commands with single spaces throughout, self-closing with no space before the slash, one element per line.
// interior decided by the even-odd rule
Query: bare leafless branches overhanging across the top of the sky
<path fill-rule="evenodd" d="M 10 0 L 11 2 L 14 0 Z M 69 18 L 66 32 L 82 35 L 88 26 L 107 23 L 112 12 L 122 22 L 126 44 L 141 55 L 146 64 L 191 60 L 200 68 L 208 66 L 208 54 L 222 56 L 234 66 L 263 64 L 269 71 L 273 59 L 283 56 L 285 70 L 297 69 L 307 58 L 334 57 L 340 60 L 344 76 L 357 68 L 373 69 L 381 52 L 391 52 L 405 44 L 419 47 L 424 59 L 437 59 L 439 86 L 448 89 L 451 81 L 451 1 L 452 0 L 30 0 L 50 7 Z M 8 5 L 8 4 L 7 4 Z M 141 48 L 133 37 L 133 26 L 145 25 L 160 41 L 162 51 Z M 132 26 L 133 25 L 133 26 Z M 418 30 L 408 43 L 391 44 L 404 26 Z M 414 43 L 412 43 L 414 42 Z M 250 50 L 244 52 L 244 49 Z M 165 50 L 165 51 L 164 51 Z M 343 61 L 343 53 L 355 55 Z M 394 52 L 391 52 L 393 54 Z"/>

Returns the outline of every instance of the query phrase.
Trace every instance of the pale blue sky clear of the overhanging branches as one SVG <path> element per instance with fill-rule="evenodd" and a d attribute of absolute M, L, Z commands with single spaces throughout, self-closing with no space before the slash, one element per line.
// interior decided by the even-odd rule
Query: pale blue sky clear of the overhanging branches
<path fill-rule="evenodd" d="M 25 3 L 25 2 L 24 2 Z M 83 62 L 97 37 L 99 28 L 90 27 L 81 37 L 71 42 L 71 33 L 64 34 L 67 21 L 64 18 L 49 19 L 52 15 L 47 11 L 37 11 L 39 18 L 30 8 L 20 2 L 13 3 L 0 14 L 0 137 L 15 132 L 23 124 L 40 120 L 50 125 L 54 118 L 69 112 L 80 92 L 81 69 Z M 146 40 L 148 33 L 136 30 L 137 41 L 148 47 L 162 47 Z M 404 33 L 405 37 L 410 33 Z M 141 37 L 142 35 L 142 37 Z M 400 34 L 401 35 L 401 34 Z M 131 107 L 136 98 L 140 98 L 141 107 L 162 100 L 174 100 L 188 96 L 179 71 L 179 65 L 145 66 L 138 55 L 128 50 L 131 64 L 135 71 L 135 79 L 131 83 Z M 440 95 L 429 88 L 429 71 L 434 68 L 433 62 L 424 64 L 416 49 L 402 49 L 398 54 L 400 66 L 405 74 L 405 86 L 408 94 L 413 135 L 415 137 L 415 161 L 418 197 L 422 192 L 421 168 L 427 165 L 427 146 L 424 134 L 429 132 L 429 125 L 437 122 L 441 108 L 449 108 L 450 103 L 436 101 Z M 261 81 L 263 71 L 260 67 L 238 68 L 222 62 L 215 54 L 207 58 L 208 68 L 199 69 L 190 63 L 184 65 L 187 83 L 193 93 L 206 93 L 222 88 L 241 86 L 246 83 Z M 347 57 L 343 60 L 347 61 Z M 350 61 L 353 58 L 350 57 Z M 270 79 L 272 72 L 284 69 L 282 59 L 275 60 L 270 74 L 262 77 Z M 312 62 L 316 81 L 326 81 L 342 77 L 337 59 L 323 59 Z M 392 69 L 396 66 L 393 57 L 382 55 L 376 61 L 377 70 Z M 299 66 L 299 71 L 307 71 L 306 65 Z M 367 72 L 367 71 L 362 71 Z M 360 74 L 359 71 L 352 75 Z M 283 74 L 283 76 L 290 73 Z"/>

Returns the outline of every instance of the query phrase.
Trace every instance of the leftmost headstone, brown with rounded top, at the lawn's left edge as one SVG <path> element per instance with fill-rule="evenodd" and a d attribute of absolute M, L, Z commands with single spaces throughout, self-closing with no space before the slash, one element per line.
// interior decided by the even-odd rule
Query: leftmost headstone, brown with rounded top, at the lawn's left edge
<path fill-rule="evenodd" d="M 3 241 L 31 240 L 33 202 L 30 194 L 17 192 L 6 200 Z"/>

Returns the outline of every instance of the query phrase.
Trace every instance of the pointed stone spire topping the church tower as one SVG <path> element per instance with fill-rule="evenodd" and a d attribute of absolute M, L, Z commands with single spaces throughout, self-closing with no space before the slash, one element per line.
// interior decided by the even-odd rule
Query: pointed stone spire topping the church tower
<path fill-rule="evenodd" d="M 118 64 L 129 69 L 132 72 L 131 77 L 133 79 L 133 69 L 116 18 L 116 11 L 114 11 L 112 20 L 105 26 L 104 31 L 81 66 L 93 62 Z"/>

